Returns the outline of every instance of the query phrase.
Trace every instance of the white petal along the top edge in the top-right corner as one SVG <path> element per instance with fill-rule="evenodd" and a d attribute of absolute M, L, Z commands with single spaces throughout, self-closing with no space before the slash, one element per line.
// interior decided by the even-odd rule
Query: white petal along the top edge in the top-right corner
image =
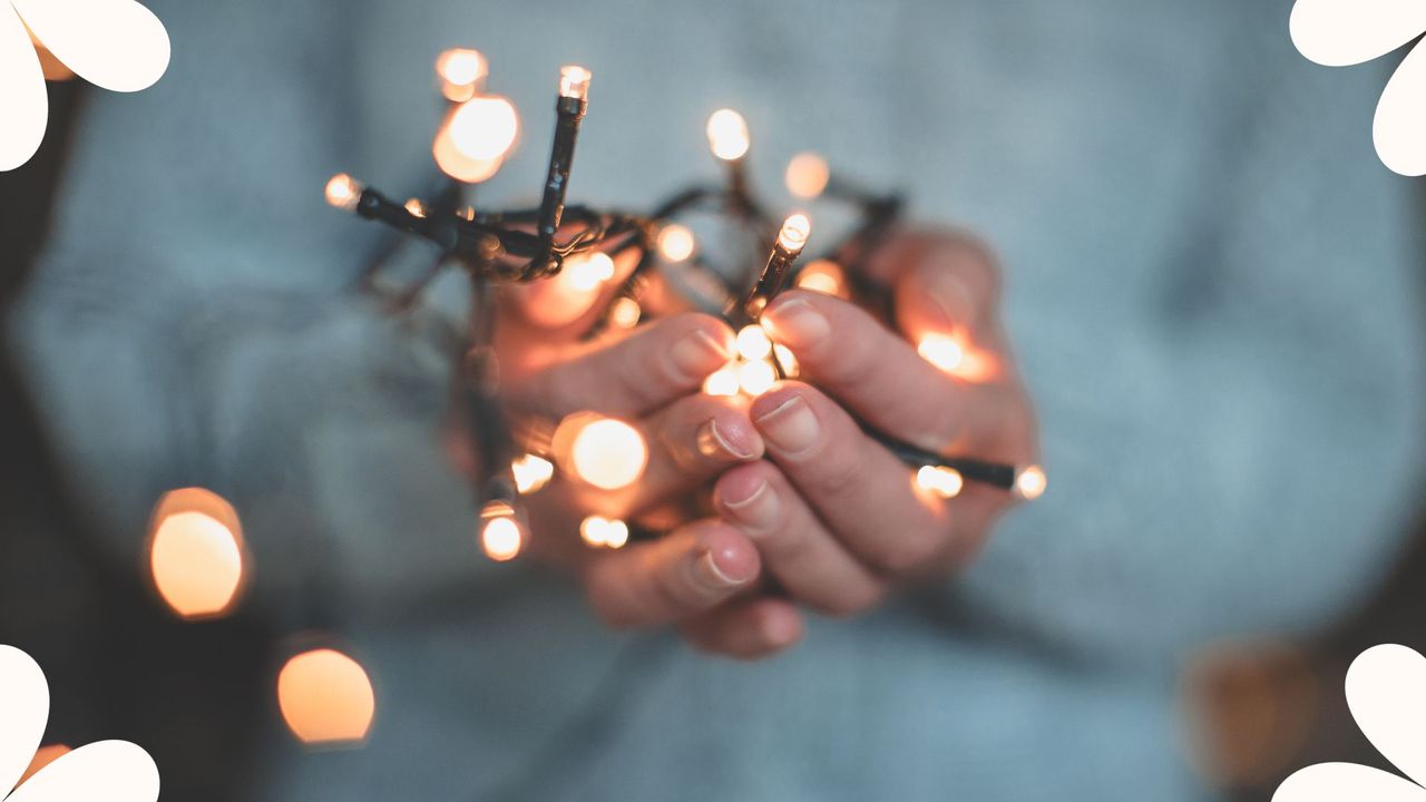
<path fill-rule="evenodd" d="M 1288 24 L 1298 50 L 1326 67 L 1370 61 L 1426 31 L 1419 0 L 1298 0 Z"/>

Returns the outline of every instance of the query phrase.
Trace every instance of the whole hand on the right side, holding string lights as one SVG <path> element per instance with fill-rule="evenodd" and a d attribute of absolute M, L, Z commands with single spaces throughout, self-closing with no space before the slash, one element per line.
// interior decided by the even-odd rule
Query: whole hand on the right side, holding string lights
<path fill-rule="evenodd" d="M 1011 502 L 974 482 L 951 501 L 920 491 L 913 471 L 853 414 L 938 454 L 1024 465 L 1037 451 L 984 248 L 900 235 L 873 257 L 870 274 L 891 288 L 901 335 L 819 293 L 793 290 L 766 310 L 764 325 L 811 384 L 783 382 L 753 402 L 767 458 L 729 469 L 714 488 L 719 511 L 757 544 L 789 595 L 830 615 L 861 612 L 896 585 L 961 568 Z M 928 334 L 961 344 L 965 355 L 950 372 L 910 344 Z M 732 626 L 720 615 L 699 619 L 689 636 L 716 648 Z"/>

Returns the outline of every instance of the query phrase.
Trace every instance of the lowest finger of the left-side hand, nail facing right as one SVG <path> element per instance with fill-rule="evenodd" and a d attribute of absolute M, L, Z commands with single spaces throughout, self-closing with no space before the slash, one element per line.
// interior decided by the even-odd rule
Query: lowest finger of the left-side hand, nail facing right
<path fill-rule="evenodd" d="M 586 568 L 595 611 L 613 628 L 657 626 L 704 612 L 759 575 L 757 548 L 707 519 L 646 544 L 603 552 Z"/>

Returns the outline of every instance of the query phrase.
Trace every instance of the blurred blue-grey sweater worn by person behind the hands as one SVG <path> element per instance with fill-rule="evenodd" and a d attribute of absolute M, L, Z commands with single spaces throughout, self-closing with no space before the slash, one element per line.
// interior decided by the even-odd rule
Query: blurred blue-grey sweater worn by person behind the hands
<path fill-rule="evenodd" d="M 210 485 L 244 515 L 247 604 L 369 668 L 368 746 L 274 728 L 255 799 L 1194 799 L 1181 658 L 1328 622 L 1400 544 L 1419 224 L 1372 153 L 1382 71 L 1298 57 L 1286 0 L 150 4 L 173 66 L 94 98 L 10 334 L 116 567 L 160 492 Z M 573 198 L 712 171 L 732 104 L 769 193 L 816 148 L 983 233 L 1050 494 L 967 575 L 753 665 L 485 564 L 435 313 L 352 291 L 384 233 L 321 193 L 424 188 L 456 44 L 523 114 L 485 197 L 530 200 L 579 61 Z"/>

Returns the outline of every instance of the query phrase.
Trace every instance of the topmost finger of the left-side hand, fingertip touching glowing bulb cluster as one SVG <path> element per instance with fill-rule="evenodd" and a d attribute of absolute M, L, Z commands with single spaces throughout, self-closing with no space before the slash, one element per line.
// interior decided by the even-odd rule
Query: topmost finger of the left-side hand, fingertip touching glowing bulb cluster
<path fill-rule="evenodd" d="M 617 342 L 566 345 L 559 362 L 512 382 L 511 404 L 552 421 L 580 411 L 643 415 L 697 390 L 732 348 L 733 331 L 719 318 L 674 315 Z"/>

